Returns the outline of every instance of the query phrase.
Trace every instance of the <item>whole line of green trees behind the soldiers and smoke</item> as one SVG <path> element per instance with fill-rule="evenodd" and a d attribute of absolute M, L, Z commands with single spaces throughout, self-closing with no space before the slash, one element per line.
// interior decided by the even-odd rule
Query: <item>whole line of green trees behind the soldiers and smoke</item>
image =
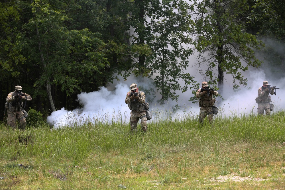
<path fill-rule="evenodd" d="M 284 8 L 277 0 L 1 1 L 1 119 L 16 85 L 46 115 L 76 108 L 77 94 L 119 75 L 151 77 L 160 103 L 177 100 L 177 91 L 197 87 L 186 72 L 192 64 L 219 93 L 224 74 L 238 89 L 247 85 L 241 70 L 262 66 L 255 52 L 263 39 L 284 42 Z M 265 47 L 264 59 L 282 73 L 284 49 Z M 194 52 L 197 63 L 189 63 Z"/>

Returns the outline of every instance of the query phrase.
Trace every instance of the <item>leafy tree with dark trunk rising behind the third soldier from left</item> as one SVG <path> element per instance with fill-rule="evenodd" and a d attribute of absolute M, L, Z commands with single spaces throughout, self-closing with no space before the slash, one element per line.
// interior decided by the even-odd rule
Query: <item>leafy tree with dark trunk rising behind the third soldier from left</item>
<path fill-rule="evenodd" d="M 248 9 L 246 0 L 204 0 L 196 5 L 199 71 L 209 83 L 218 83 L 219 94 L 223 94 L 224 73 L 232 76 L 233 89 L 237 90 L 239 84 L 247 85 L 241 71 L 261 64 L 254 49 L 259 49 L 262 42 L 245 32 L 241 19 Z"/>

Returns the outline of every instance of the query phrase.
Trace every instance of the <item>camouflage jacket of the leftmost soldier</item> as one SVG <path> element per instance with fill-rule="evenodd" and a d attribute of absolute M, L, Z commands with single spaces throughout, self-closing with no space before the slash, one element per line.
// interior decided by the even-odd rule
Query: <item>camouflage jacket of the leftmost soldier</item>
<path fill-rule="evenodd" d="M 25 94 L 22 96 L 22 99 L 20 99 L 19 101 L 19 98 L 15 98 L 15 94 L 16 92 L 10 92 L 6 98 L 6 104 L 5 104 L 5 107 L 9 110 L 9 111 L 22 111 L 23 108 L 21 107 L 21 105 L 23 105 L 23 100 L 27 99 L 27 101 L 31 101 L 32 100 L 32 97 L 26 93 L 23 93 L 22 94 Z M 21 102 L 21 105 L 20 105 L 20 102 Z"/>

